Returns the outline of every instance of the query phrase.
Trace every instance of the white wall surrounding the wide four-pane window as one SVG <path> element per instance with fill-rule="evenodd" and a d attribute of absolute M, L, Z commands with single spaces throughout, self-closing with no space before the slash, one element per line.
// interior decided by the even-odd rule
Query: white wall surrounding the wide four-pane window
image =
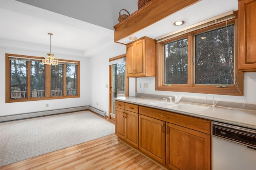
<path fill-rule="evenodd" d="M 2 80 L 0 81 L 0 116 L 86 106 L 90 104 L 91 87 L 89 79 L 89 59 L 60 53 L 54 53 L 54 57 L 80 61 L 80 98 L 5 103 L 5 53 L 36 57 L 46 56 L 46 51 L 36 51 L 15 47 L 0 47 L 0 80 Z M 49 107 L 46 107 L 46 104 L 49 104 Z"/>

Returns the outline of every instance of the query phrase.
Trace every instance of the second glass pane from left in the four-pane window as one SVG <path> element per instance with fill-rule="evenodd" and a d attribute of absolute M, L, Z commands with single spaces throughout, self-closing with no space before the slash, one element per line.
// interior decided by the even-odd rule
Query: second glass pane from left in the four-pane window
<path fill-rule="evenodd" d="M 44 97 L 44 64 L 31 62 L 31 97 Z"/>

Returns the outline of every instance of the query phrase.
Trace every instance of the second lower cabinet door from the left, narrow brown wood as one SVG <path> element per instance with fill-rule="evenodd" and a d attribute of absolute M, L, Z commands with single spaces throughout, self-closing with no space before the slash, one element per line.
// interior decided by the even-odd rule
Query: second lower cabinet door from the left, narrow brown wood
<path fill-rule="evenodd" d="M 139 117 L 138 113 L 131 111 L 125 112 L 125 140 L 133 145 L 139 147 Z"/>

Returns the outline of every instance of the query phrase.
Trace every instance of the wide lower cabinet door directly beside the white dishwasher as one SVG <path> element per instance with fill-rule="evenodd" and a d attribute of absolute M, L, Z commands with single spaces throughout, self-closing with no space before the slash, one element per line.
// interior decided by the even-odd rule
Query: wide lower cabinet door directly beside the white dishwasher
<path fill-rule="evenodd" d="M 166 123 L 166 165 L 173 170 L 210 170 L 210 135 Z"/>

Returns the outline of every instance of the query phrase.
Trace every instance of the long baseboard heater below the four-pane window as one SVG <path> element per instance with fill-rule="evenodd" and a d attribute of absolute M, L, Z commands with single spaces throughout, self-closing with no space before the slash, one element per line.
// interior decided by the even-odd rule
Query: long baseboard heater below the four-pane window
<path fill-rule="evenodd" d="M 79 107 L 70 107 L 70 108 L 64 108 L 64 109 L 46 110 L 46 111 L 38 111 L 38 112 L 32 112 L 32 113 L 0 116 L 0 122 L 12 121 L 12 120 L 18 120 L 18 119 L 27 119 L 32 117 L 46 116 L 46 115 L 55 115 L 60 113 L 69 113 L 69 112 L 81 111 L 81 110 L 87 110 L 87 109 L 88 109 L 88 106 L 79 106 Z"/>

